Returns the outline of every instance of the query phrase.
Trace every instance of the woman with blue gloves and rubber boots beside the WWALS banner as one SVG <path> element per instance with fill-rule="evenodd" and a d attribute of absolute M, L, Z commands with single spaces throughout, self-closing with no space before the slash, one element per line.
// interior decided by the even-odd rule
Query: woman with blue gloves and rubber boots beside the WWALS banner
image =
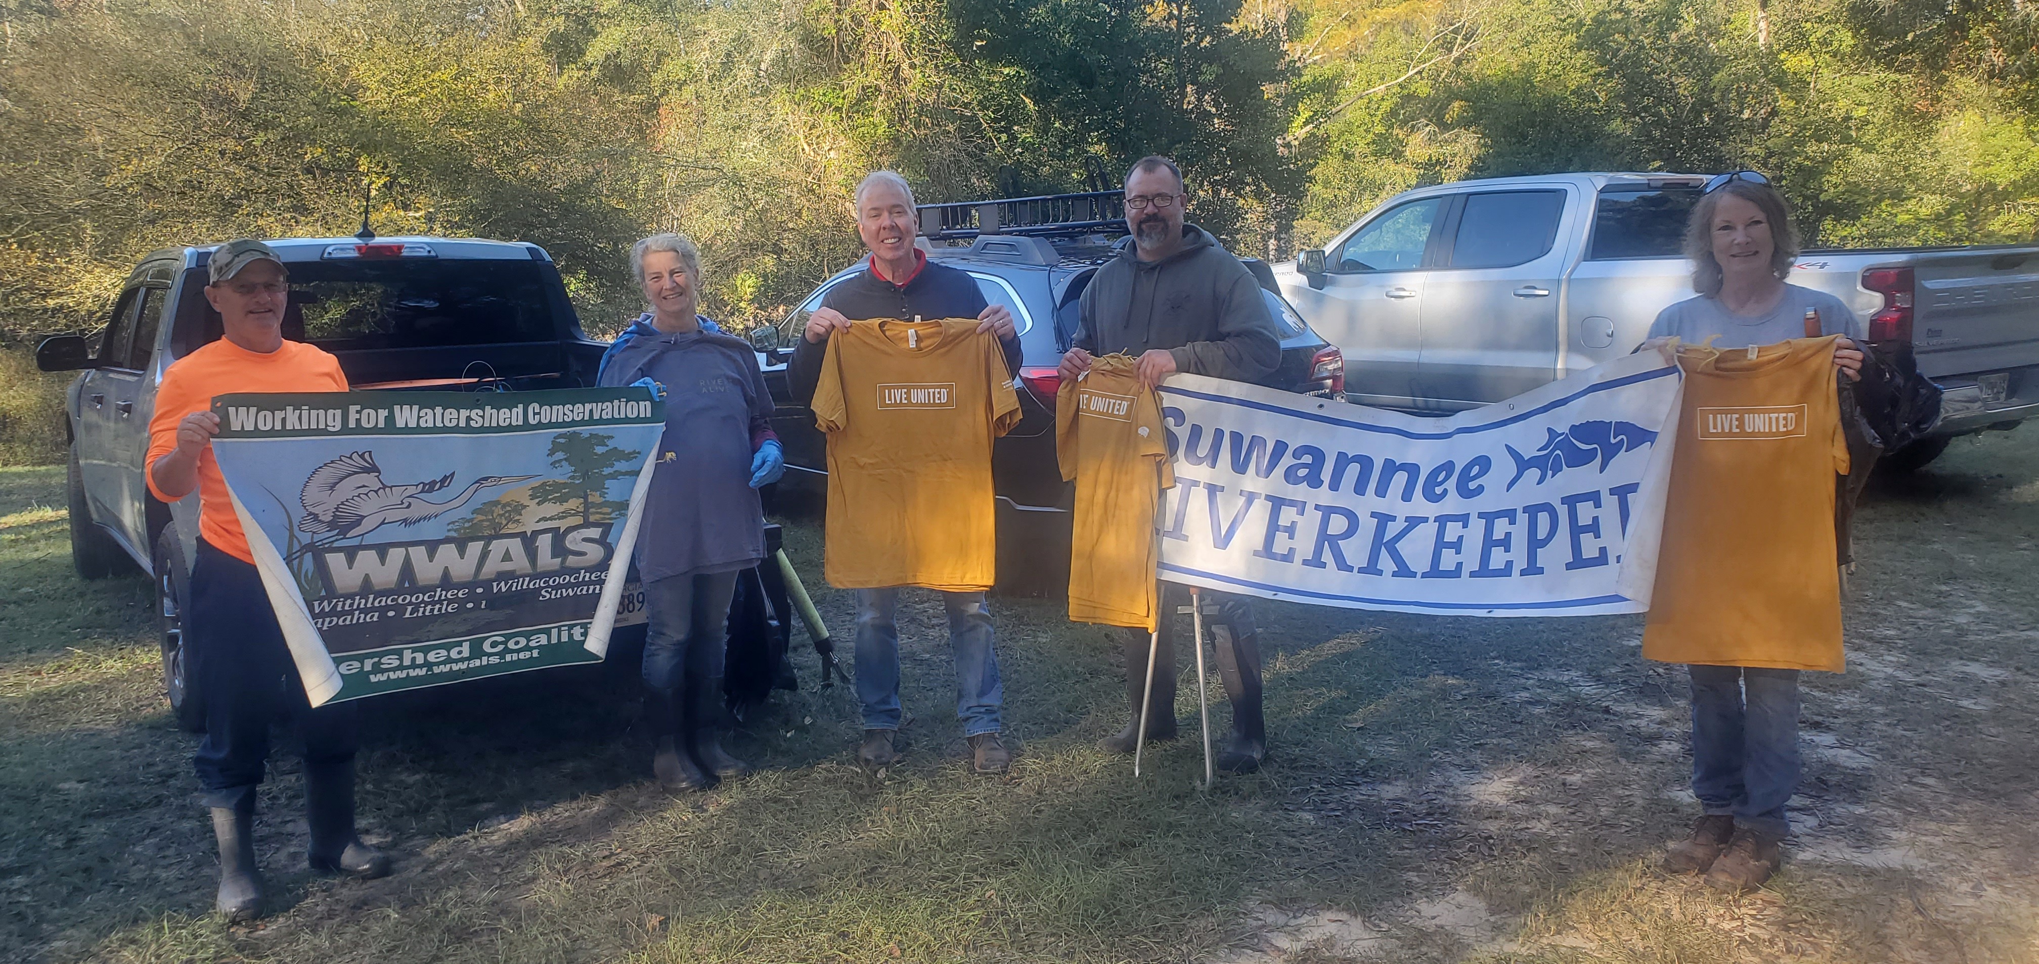
<path fill-rule="evenodd" d="M 771 430 L 773 401 L 756 353 L 695 314 L 701 255 L 693 243 L 652 234 L 636 243 L 630 261 L 650 324 L 632 326 L 632 338 L 610 351 L 599 381 L 646 385 L 665 399 L 665 436 L 636 542 L 650 618 L 644 707 L 659 785 L 693 791 L 750 772 L 722 750 L 716 732 L 722 656 L 736 575 L 765 558 L 756 489 L 785 473 L 785 450 Z"/>

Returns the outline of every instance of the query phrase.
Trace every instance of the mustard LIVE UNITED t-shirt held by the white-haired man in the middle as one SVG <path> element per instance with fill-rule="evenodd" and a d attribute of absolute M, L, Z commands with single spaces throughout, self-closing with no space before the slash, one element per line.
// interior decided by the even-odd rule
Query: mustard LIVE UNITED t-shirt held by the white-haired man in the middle
<path fill-rule="evenodd" d="M 814 391 L 828 432 L 828 585 L 991 589 L 991 440 L 1020 424 L 1020 395 L 997 336 L 977 324 L 879 318 L 828 338 Z"/>

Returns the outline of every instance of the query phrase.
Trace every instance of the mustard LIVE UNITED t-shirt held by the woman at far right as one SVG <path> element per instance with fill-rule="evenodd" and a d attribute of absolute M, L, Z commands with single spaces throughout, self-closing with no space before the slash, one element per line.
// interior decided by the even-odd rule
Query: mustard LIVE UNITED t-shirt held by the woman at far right
<path fill-rule="evenodd" d="M 1684 406 L 1643 656 L 1841 673 L 1833 336 L 1680 346 Z"/>

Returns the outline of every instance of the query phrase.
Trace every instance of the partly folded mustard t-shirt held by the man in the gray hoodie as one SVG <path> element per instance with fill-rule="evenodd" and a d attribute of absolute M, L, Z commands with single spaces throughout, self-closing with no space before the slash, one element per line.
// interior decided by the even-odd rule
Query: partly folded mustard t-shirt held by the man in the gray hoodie
<path fill-rule="evenodd" d="M 1105 355 L 1054 395 L 1054 457 L 1077 483 L 1068 618 L 1154 632 L 1154 505 L 1174 487 L 1160 404 L 1134 359 Z"/>

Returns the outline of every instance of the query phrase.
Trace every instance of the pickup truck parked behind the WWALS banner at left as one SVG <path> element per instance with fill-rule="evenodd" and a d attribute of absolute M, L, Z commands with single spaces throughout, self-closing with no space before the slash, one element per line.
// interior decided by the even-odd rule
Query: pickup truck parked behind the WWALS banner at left
<path fill-rule="evenodd" d="M 589 340 L 553 259 L 536 245 L 471 238 L 277 238 L 290 267 L 283 336 L 341 359 L 355 389 L 589 387 Z M 169 363 L 220 336 L 206 304 L 212 247 L 151 253 L 120 289 L 98 344 L 45 338 L 43 371 L 80 371 L 65 393 L 71 560 L 102 579 L 155 577 L 163 681 L 177 721 L 200 726 L 184 675 L 179 613 L 198 538 L 198 493 L 163 503 L 143 481 L 155 387 Z M 618 624 L 642 622 L 642 607 Z"/>

